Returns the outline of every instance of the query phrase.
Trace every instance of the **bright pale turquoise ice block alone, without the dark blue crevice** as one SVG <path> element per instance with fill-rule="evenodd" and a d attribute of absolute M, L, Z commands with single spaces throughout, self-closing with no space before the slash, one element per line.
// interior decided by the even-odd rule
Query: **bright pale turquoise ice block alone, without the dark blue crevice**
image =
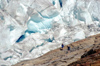
<path fill-rule="evenodd" d="M 52 27 L 51 24 L 52 24 L 52 19 L 46 19 L 45 21 L 41 21 L 39 23 L 29 20 L 27 26 L 28 26 L 28 31 L 41 33 L 43 29 L 51 28 Z"/>

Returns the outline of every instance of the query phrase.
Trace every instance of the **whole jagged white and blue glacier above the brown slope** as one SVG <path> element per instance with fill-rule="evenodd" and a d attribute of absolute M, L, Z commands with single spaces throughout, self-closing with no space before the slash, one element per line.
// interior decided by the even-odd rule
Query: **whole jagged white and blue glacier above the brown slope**
<path fill-rule="evenodd" d="M 99 17 L 99 0 L 0 0 L 0 66 L 98 34 Z"/>

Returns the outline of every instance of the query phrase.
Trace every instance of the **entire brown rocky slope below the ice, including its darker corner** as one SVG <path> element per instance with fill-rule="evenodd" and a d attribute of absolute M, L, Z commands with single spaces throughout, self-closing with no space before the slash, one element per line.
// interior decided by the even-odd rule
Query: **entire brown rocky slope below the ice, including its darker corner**
<path fill-rule="evenodd" d="M 90 66 L 92 63 L 98 64 L 100 61 L 99 40 L 100 34 L 90 36 L 70 44 L 70 52 L 67 51 L 67 46 L 65 46 L 63 50 L 58 48 L 39 58 L 22 61 L 12 66 L 81 66 L 82 64 L 83 66 L 86 66 L 86 64 Z M 93 64 L 92 66 L 99 66 Z"/>

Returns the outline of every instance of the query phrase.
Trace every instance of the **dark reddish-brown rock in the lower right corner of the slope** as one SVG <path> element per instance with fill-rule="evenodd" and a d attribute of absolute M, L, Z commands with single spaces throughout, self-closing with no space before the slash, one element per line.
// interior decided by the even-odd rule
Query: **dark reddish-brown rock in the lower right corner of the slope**
<path fill-rule="evenodd" d="M 68 66 L 100 66 L 100 44 L 81 56 L 81 59 Z"/>

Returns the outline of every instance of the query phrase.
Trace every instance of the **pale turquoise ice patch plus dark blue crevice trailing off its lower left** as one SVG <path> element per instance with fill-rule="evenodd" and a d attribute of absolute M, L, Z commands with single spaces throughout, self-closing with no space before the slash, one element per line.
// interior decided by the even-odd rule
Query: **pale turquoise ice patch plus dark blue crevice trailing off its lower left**
<path fill-rule="evenodd" d="M 16 42 L 20 42 L 27 37 L 27 34 L 31 33 L 45 33 L 48 29 L 52 28 L 52 19 L 46 19 L 43 22 L 34 22 L 31 19 L 27 23 L 28 29 L 21 35 Z M 13 29 L 13 28 L 12 28 Z"/>

